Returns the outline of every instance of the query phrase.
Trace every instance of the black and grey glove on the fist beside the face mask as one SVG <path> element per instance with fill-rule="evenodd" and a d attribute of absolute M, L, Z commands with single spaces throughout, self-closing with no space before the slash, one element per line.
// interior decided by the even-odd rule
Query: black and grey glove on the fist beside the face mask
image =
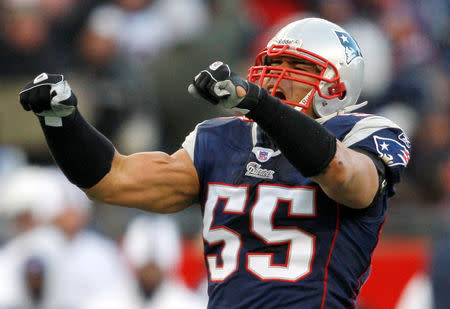
<path fill-rule="evenodd" d="M 242 86 L 247 95 L 239 97 L 237 86 Z M 206 70 L 195 76 L 188 91 L 194 97 L 200 97 L 208 102 L 225 108 L 250 109 L 257 103 L 260 88 L 233 73 L 221 61 L 211 64 Z"/>

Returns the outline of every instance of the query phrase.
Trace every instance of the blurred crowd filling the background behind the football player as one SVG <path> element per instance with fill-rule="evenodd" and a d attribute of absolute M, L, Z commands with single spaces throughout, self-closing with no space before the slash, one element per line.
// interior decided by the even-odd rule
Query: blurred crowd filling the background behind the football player
<path fill-rule="evenodd" d="M 386 232 L 448 233 L 448 15 L 447 0 L 2 0 L 0 308 L 198 308 L 206 297 L 198 207 L 164 218 L 92 207 L 20 110 L 25 83 L 63 73 L 119 151 L 170 153 L 226 114 L 188 95 L 193 76 L 215 60 L 245 76 L 280 25 L 307 16 L 355 37 L 361 112 L 390 118 L 412 143 Z M 170 303 L 175 290 L 183 306 Z"/>

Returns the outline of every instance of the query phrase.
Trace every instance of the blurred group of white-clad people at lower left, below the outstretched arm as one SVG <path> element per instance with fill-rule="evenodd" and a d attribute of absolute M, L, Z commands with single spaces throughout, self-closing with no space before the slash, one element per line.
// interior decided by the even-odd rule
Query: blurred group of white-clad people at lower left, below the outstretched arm
<path fill-rule="evenodd" d="M 204 290 L 179 275 L 172 218 L 137 215 L 113 241 L 89 228 L 91 202 L 56 168 L 21 167 L 0 196 L 12 224 L 0 250 L 0 308 L 205 307 Z"/>

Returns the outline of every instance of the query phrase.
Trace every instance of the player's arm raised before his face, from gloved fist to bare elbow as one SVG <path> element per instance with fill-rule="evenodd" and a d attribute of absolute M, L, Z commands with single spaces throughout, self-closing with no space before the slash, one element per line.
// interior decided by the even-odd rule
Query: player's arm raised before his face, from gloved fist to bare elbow
<path fill-rule="evenodd" d="M 247 110 L 246 116 L 276 141 L 289 162 L 336 202 L 365 208 L 379 192 L 377 158 L 345 147 L 316 120 L 244 81 L 228 65 L 216 62 L 200 72 L 189 92 L 213 104 Z"/>

